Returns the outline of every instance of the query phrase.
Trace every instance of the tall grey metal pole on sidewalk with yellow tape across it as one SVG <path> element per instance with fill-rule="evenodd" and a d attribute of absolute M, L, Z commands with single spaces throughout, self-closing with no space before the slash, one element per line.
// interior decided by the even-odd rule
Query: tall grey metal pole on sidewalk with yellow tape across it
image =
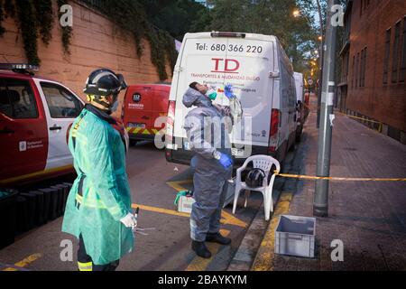
<path fill-rule="evenodd" d="M 328 21 L 326 30 L 326 51 L 323 61 L 323 79 L 320 109 L 320 129 L 318 130 L 318 170 L 317 175 L 330 174 L 331 136 L 333 127 L 333 98 L 335 91 L 334 71 L 336 56 L 337 25 L 331 22 L 331 8 L 337 0 L 328 0 Z M 313 215 L 328 217 L 328 180 L 317 180 L 313 200 Z"/>

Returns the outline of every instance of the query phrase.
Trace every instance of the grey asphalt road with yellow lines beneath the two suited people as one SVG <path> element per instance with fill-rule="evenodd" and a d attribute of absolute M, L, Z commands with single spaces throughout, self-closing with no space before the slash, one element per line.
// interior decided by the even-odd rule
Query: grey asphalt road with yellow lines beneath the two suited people
<path fill-rule="evenodd" d="M 189 167 L 167 163 L 163 151 L 143 142 L 130 148 L 127 173 L 132 200 L 141 208 L 138 226 L 152 229 L 144 231 L 147 236 L 136 235 L 134 252 L 121 260 L 118 270 L 226 270 L 254 215 L 262 208 L 262 196 L 255 193 L 246 209 L 240 199 L 235 216 L 231 214 L 232 206 L 227 206 L 223 210 L 222 232 L 233 239 L 232 246 L 210 244 L 215 254 L 204 260 L 190 249 L 189 215 L 179 213 L 173 205 L 177 190 L 192 188 Z M 76 271 L 77 241 L 60 231 L 61 223 L 62 218 L 56 219 L 18 236 L 13 245 L 0 250 L 0 270 L 17 264 L 28 270 Z M 73 244 L 71 261 L 60 258 L 64 249 L 61 242 L 66 240 Z"/>

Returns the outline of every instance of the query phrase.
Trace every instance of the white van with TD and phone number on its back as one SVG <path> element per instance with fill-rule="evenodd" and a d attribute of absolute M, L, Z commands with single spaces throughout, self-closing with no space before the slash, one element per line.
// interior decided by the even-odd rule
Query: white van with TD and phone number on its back
<path fill-rule="evenodd" d="M 250 154 L 269 154 L 283 161 L 295 144 L 296 93 L 291 61 L 274 36 L 254 33 L 187 33 L 176 62 L 166 126 L 166 158 L 189 164 L 184 119 L 189 109 L 183 94 L 193 81 L 217 88 L 216 102 L 234 88 L 244 115 L 242 133 L 230 135 L 237 163 Z M 246 147 L 252 149 L 247 150 Z M 242 148 L 244 147 L 244 148 Z M 247 154 L 249 152 L 249 154 Z"/>

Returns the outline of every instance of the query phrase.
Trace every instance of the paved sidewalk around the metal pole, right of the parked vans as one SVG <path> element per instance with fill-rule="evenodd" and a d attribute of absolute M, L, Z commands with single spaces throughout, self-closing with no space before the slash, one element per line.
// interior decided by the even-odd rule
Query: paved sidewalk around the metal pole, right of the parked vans
<path fill-rule="evenodd" d="M 317 154 L 316 114 L 311 113 L 291 172 L 316 175 Z M 404 178 L 406 146 L 336 115 L 330 175 Z M 290 206 L 287 195 L 275 209 L 253 270 L 406 270 L 406 182 L 330 182 L 329 215 L 317 218 L 314 259 L 273 254 L 279 213 L 313 217 L 315 182 L 296 181 L 292 189 Z M 334 239 L 344 243 L 343 262 L 331 260 Z"/>

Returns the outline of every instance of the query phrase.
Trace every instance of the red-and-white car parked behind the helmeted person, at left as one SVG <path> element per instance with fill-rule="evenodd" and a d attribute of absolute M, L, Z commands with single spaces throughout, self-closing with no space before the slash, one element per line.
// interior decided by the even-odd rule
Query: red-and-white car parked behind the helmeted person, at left
<path fill-rule="evenodd" d="M 69 128 L 85 103 L 34 70 L 28 64 L 0 64 L 0 186 L 73 172 Z M 127 147 L 128 135 L 117 121 Z"/>

